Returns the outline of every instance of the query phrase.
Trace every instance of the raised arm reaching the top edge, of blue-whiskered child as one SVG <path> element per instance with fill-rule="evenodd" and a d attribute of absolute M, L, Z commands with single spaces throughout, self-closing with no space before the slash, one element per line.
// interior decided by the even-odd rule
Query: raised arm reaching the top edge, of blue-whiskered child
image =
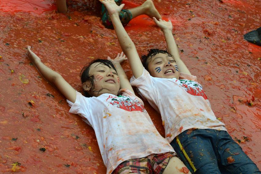
<path fill-rule="evenodd" d="M 102 2 L 104 6 L 106 6 L 109 12 L 114 30 L 118 37 L 118 41 L 121 45 L 121 49 L 124 52 L 124 54 L 128 57 L 134 77 L 135 78 L 140 77 L 143 72 L 143 65 L 140 61 L 140 57 L 137 53 L 134 43 L 132 42 L 129 35 L 125 31 L 124 27 L 121 24 L 121 20 L 119 18 L 119 12 L 123 8 L 124 4 L 117 6 L 114 0 L 99 0 L 99 1 Z"/>

